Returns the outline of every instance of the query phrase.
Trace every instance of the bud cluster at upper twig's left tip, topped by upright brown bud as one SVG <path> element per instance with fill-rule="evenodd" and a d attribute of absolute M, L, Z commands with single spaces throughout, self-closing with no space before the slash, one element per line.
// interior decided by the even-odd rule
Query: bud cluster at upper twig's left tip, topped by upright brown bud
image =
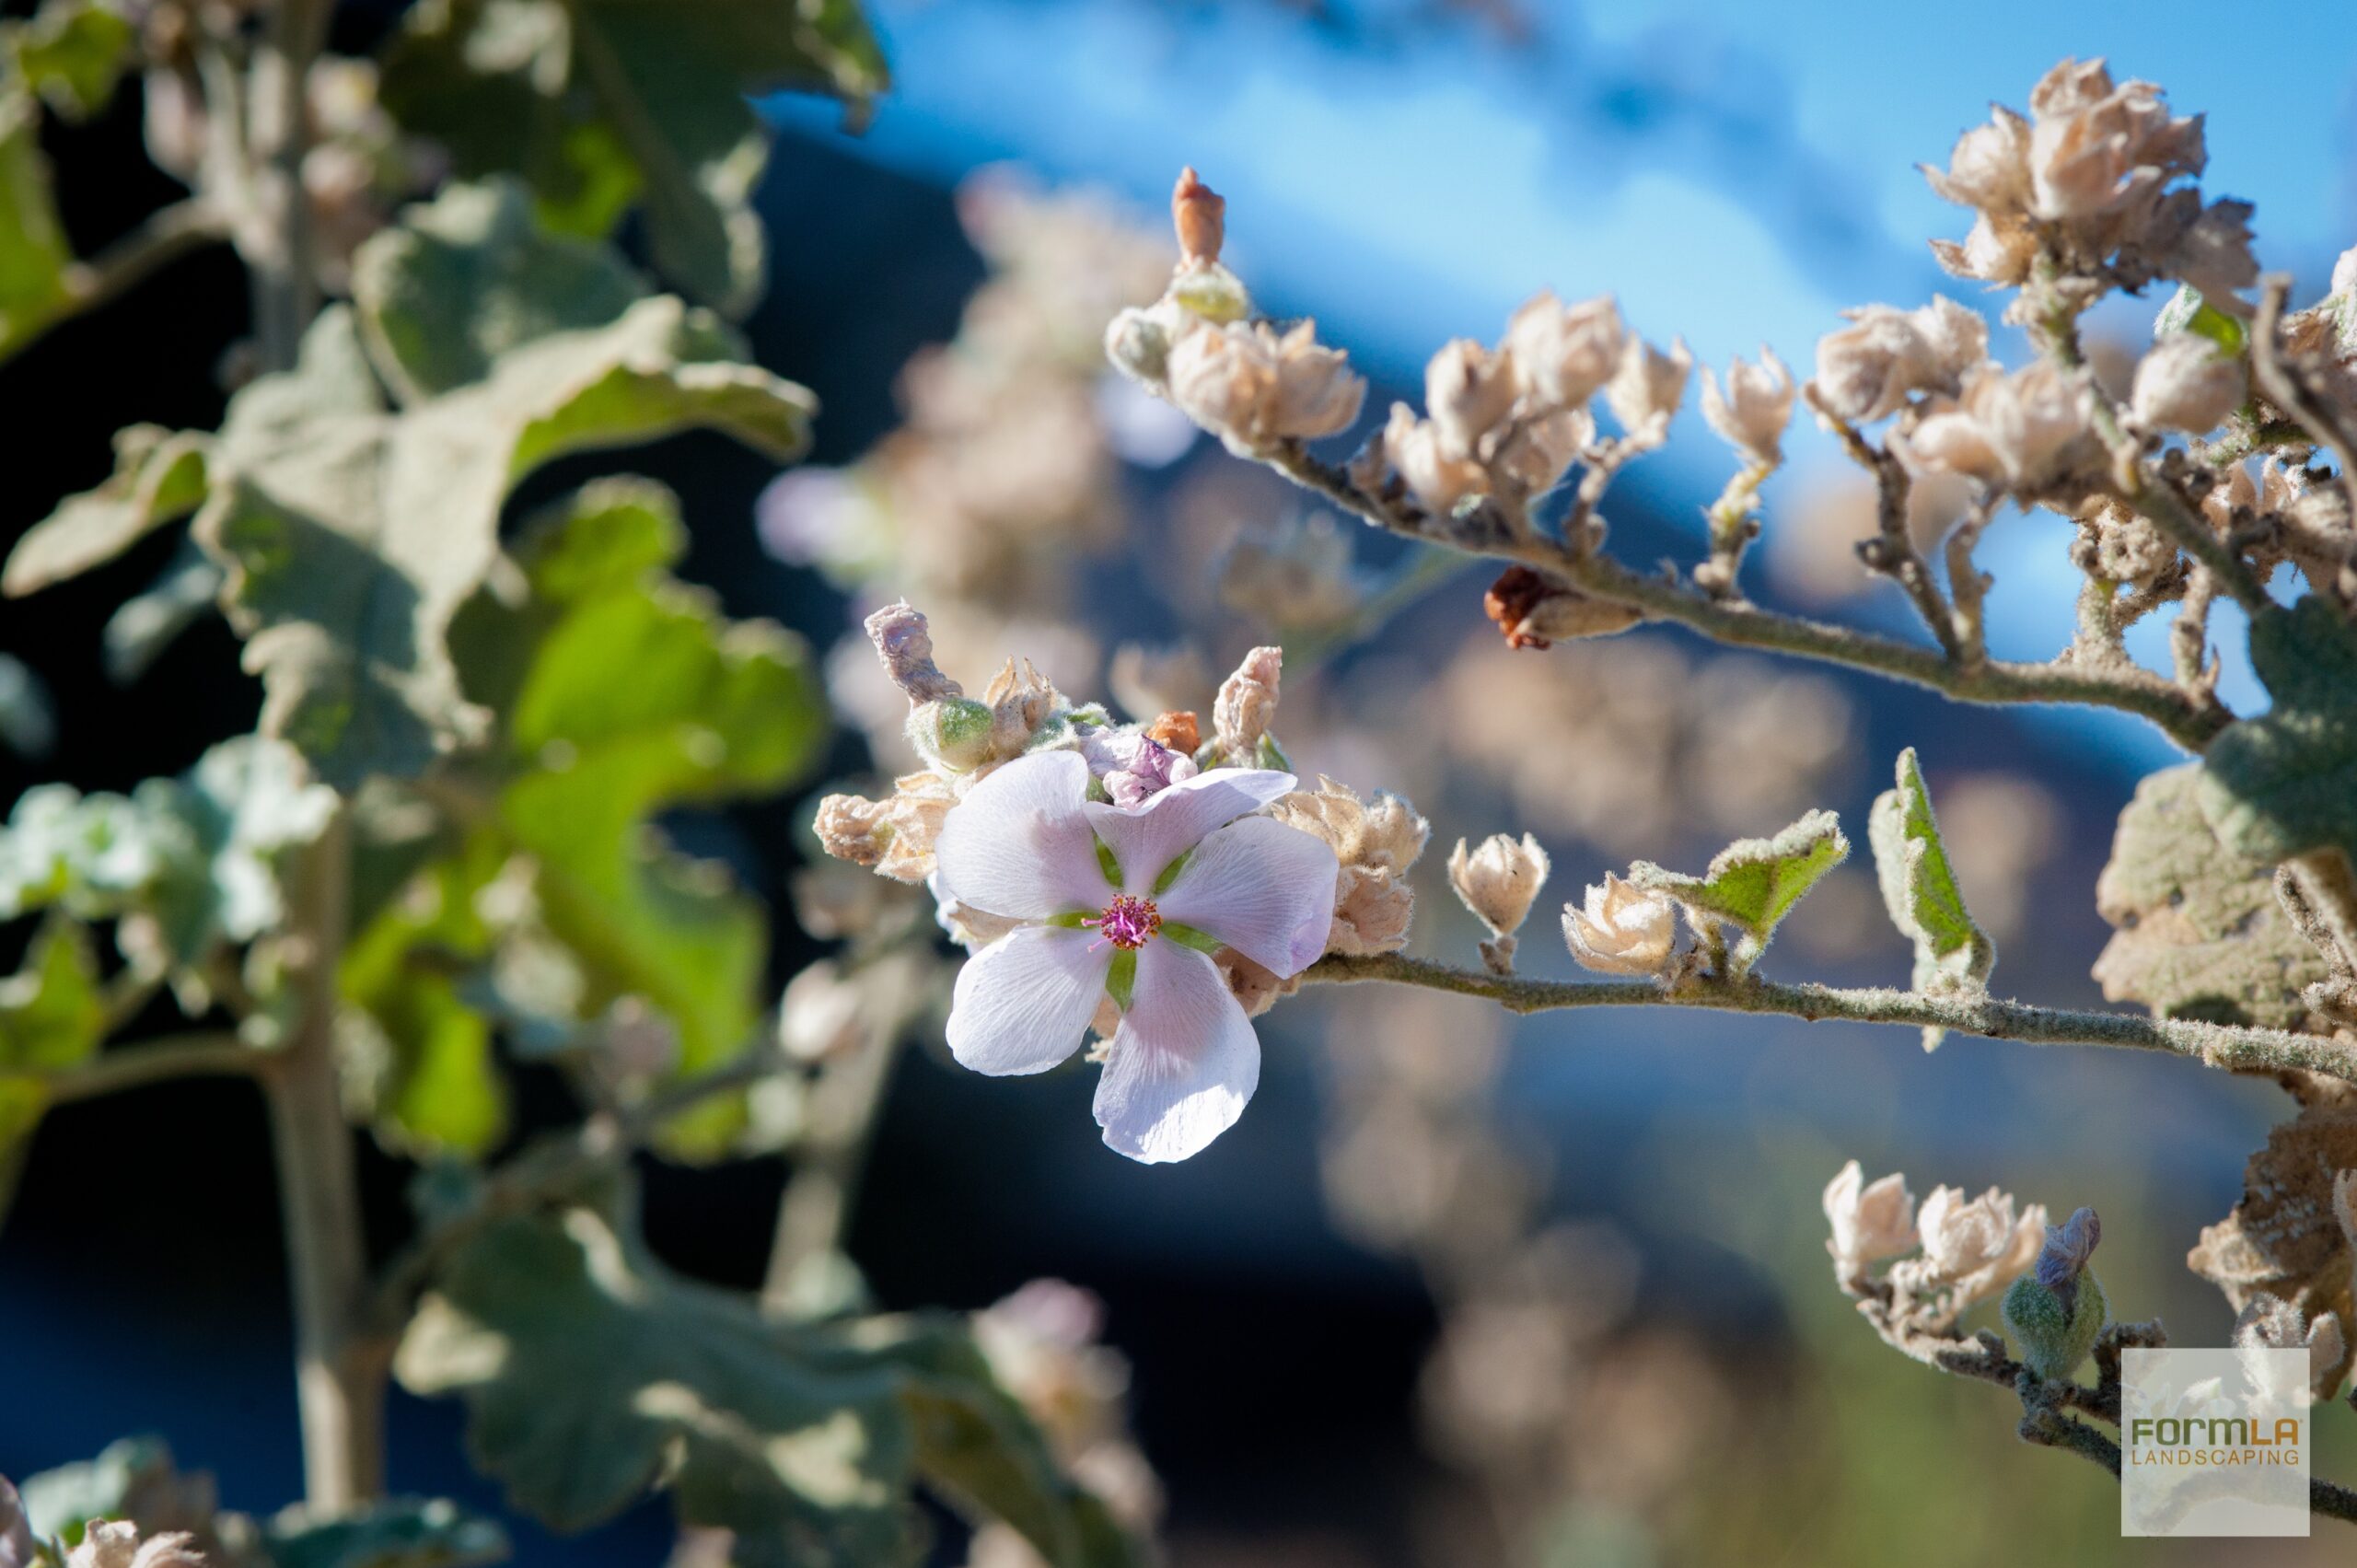
<path fill-rule="evenodd" d="M 1252 321 L 1252 295 L 1219 259 L 1223 215 L 1226 203 L 1183 170 L 1171 191 L 1178 266 L 1160 299 L 1113 318 L 1105 356 L 1240 457 L 1348 429 L 1367 382 L 1318 342 L 1318 323 L 1277 332 Z"/>

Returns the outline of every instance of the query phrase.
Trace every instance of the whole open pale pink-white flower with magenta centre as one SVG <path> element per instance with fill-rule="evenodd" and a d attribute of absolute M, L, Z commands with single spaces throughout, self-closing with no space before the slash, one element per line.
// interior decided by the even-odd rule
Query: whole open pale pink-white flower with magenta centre
<path fill-rule="evenodd" d="M 938 891 L 1023 924 L 957 974 L 950 1054 L 976 1073 L 1044 1073 L 1110 995 L 1105 1144 L 1183 1160 L 1233 1127 L 1261 1042 L 1209 955 L 1294 976 L 1334 917 L 1334 849 L 1252 816 L 1292 788 L 1292 773 L 1211 769 L 1115 806 L 1089 799 L 1080 752 L 1018 757 L 973 785 L 940 825 Z"/>

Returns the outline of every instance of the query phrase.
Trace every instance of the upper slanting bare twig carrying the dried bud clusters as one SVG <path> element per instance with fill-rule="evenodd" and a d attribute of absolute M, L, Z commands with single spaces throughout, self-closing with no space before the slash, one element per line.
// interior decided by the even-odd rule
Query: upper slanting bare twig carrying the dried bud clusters
<path fill-rule="evenodd" d="M 1673 578 L 1648 578 L 1603 552 L 1582 552 L 1544 535 L 1513 535 L 1506 528 L 1457 528 L 1454 519 L 1450 519 L 1450 531 L 1440 531 L 1433 526 L 1433 519 L 1426 519 L 1409 502 L 1360 488 L 1346 469 L 1315 457 L 1301 443 L 1275 448 L 1266 462 L 1294 483 L 1325 495 L 1376 528 L 1431 545 L 1450 545 L 1471 554 L 1520 561 L 1570 582 L 1584 594 L 1626 604 L 1652 620 L 1673 620 L 1711 641 L 1794 653 L 1853 670 L 1874 670 L 1963 703 L 2079 703 L 2088 707 L 2117 707 L 2119 712 L 2150 719 L 2171 740 L 2194 752 L 2209 745 L 2230 722 L 2230 714 L 2216 705 L 2201 707 L 2187 700 L 2173 681 L 2147 670 L 2088 670 L 2062 663 L 2022 665 L 2006 660 L 1966 667 L 1947 658 L 1942 648 L 1765 611 L 1737 599 L 1714 599 Z"/>

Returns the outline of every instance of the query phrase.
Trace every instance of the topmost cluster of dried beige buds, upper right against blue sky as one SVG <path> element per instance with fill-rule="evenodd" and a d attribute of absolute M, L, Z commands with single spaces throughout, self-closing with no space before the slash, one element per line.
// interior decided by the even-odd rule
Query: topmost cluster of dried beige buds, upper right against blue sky
<path fill-rule="evenodd" d="M 2027 118 L 1999 106 L 1945 170 L 1923 170 L 1975 212 L 1970 233 L 1933 241 L 1933 255 L 1959 278 L 2003 285 L 2039 283 L 2044 259 L 2041 288 L 2072 311 L 2107 288 L 2178 278 L 2249 314 L 2234 297 L 2258 278 L 2249 203 L 2204 205 L 2180 184 L 2206 160 L 2201 116 L 2171 116 L 2152 83 L 2114 85 L 2100 59 L 2065 59 L 2029 92 Z"/>

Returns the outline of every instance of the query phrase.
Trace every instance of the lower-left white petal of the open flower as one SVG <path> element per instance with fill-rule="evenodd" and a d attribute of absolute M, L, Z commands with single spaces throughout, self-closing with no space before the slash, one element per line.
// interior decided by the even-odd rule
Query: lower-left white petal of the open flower
<path fill-rule="evenodd" d="M 950 1054 L 995 1078 L 1047 1073 L 1080 1049 L 1110 967 L 1096 931 L 1016 927 L 957 971 Z"/>

